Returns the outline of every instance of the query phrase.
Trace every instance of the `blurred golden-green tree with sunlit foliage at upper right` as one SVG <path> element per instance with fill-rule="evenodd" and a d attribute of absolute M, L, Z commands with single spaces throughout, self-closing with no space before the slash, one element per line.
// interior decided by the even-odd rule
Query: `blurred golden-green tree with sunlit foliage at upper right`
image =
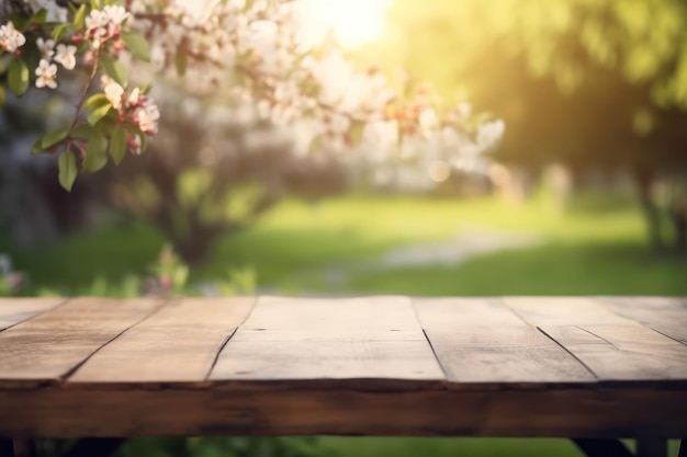
<path fill-rule="evenodd" d="M 631 170 L 655 244 L 652 184 L 667 176 L 684 247 L 686 2 L 398 0 L 392 16 L 396 33 L 380 54 L 503 117 L 500 160 Z"/>

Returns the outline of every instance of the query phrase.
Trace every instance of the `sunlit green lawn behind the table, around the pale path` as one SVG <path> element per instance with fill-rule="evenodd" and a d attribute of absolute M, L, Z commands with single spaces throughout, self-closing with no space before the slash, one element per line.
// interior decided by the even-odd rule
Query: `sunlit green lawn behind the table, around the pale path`
<path fill-rule="evenodd" d="M 687 295 L 684 255 L 652 252 L 633 202 L 583 196 L 564 214 L 545 199 L 347 196 L 317 206 L 285 202 L 256 227 L 222 239 L 191 281 L 224 278 L 251 266 L 261 287 L 284 294 Z M 532 248 L 495 252 L 451 266 L 370 267 L 394 247 L 439 242 L 461 232 L 534 233 Z M 121 284 L 155 262 L 164 241 L 144 222 L 72 233 L 50 248 L 19 249 L 0 239 L 35 286 L 82 294 L 98 278 Z M 342 279 L 327 272 L 336 267 Z"/>

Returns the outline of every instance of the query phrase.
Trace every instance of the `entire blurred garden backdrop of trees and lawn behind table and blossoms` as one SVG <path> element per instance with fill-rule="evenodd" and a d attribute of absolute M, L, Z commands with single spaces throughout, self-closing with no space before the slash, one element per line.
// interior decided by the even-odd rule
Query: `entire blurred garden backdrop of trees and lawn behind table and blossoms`
<path fill-rule="evenodd" d="M 151 149 L 67 195 L 49 157 L 22 152 L 63 105 L 8 96 L 0 295 L 687 295 L 685 1 L 395 0 L 387 25 L 350 54 L 504 118 L 488 170 L 418 187 L 394 165 L 374 186 L 269 126 L 213 124 L 222 98 L 182 108 L 170 87 Z M 579 455 L 410 438 L 142 439 L 120 455 L 390 453 Z"/>

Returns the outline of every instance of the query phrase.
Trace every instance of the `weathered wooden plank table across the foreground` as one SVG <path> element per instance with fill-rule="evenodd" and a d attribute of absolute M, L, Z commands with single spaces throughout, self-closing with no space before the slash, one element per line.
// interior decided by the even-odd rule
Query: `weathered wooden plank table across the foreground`
<path fill-rule="evenodd" d="M 687 436 L 687 299 L 0 300 L 4 443 L 292 434 L 664 455 Z"/>

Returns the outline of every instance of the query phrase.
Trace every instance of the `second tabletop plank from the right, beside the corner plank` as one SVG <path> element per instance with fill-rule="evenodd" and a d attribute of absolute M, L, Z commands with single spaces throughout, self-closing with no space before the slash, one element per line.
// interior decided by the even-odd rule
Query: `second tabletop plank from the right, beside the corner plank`
<path fill-rule="evenodd" d="M 687 346 L 590 298 L 506 298 L 600 380 L 687 380 Z"/>

